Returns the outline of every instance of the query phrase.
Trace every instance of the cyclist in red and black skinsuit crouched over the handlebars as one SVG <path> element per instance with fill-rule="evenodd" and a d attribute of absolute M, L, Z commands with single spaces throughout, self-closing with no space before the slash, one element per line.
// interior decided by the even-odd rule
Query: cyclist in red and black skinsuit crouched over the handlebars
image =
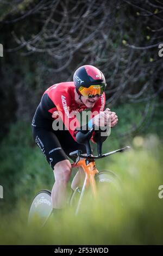
<path fill-rule="evenodd" d="M 73 82 L 61 82 L 49 87 L 36 109 L 32 121 L 33 137 L 54 171 L 52 204 L 55 211 L 66 206 L 66 187 L 71 175 L 67 155 L 78 149 L 85 153 L 84 145 L 77 142 L 77 132 L 81 129 L 88 131 L 92 125 L 98 127 L 100 121 L 110 127 L 117 124 L 116 113 L 109 108 L 104 110 L 105 87 L 105 77 L 99 69 L 91 65 L 80 66 L 74 72 Z M 76 115 L 87 108 L 91 109 L 91 119 L 80 127 Z M 53 124 L 60 120 L 63 129 L 57 130 Z M 82 179 L 82 173 L 79 169 L 72 183 L 73 189 Z"/>

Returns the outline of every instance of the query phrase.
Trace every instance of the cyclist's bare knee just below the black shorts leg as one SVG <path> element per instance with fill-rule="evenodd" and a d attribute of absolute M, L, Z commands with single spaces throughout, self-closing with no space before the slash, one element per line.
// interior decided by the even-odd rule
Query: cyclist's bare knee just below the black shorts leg
<path fill-rule="evenodd" d="M 71 175 L 71 163 L 68 160 L 63 160 L 55 164 L 54 176 L 55 182 L 67 183 Z"/>

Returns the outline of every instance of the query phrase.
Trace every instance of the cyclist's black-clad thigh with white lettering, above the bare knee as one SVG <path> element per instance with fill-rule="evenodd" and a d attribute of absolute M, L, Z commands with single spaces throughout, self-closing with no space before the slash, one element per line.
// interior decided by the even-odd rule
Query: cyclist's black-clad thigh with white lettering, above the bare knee
<path fill-rule="evenodd" d="M 41 149 L 52 169 L 54 169 L 56 163 L 68 159 L 61 147 L 59 139 L 52 131 L 46 129 L 34 129 L 33 136 L 36 144 Z"/>

